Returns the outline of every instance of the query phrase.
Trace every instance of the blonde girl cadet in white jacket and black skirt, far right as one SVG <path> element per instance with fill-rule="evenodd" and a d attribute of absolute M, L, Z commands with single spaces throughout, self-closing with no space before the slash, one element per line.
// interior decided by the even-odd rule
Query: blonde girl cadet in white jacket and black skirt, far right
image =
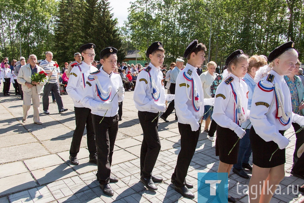
<path fill-rule="evenodd" d="M 283 77 L 295 68 L 297 58 L 293 42 L 287 42 L 269 54 L 270 64 L 260 68 L 255 77 L 256 82 L 261 81 L 254 90 L 250 110 L 253 157 L 249 183 L 251 203 L 271 200 L 271 192 L 275 192 L 276 186 L 285 176 L 285 148 L 290 140 L 284 137 L 284 132 L 292 122 L 304 125 L 304 117 L 292 112 L 290 92 Z M 271 192 L 268 188 L 271 188 Z M 268 192 L 260 194 L 257 191 Z"/>

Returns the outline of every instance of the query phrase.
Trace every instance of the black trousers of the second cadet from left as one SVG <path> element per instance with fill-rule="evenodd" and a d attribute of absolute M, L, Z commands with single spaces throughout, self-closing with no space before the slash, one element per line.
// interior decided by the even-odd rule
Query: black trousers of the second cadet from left
<path fill-rule="evenodd" d="M 97 148 L 97 172 L 100 184 L 110 182 L 111 165 L 114 144 L 118 131 L 118 114 L 105 117 L 92 114 L 92 122 L 95 132 L 95 143 Z M 97 175 L 97 174 L 96 174 Z"/>

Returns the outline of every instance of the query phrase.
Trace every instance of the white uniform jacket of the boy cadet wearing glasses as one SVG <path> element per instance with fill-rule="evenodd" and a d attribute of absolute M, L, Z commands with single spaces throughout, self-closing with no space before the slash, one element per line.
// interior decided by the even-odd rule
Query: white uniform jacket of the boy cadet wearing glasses
<path fill-rule="evenodd" d="M 90 73 L 93 73 L 98 69 L 95 66 L 88 65 L 85 62 L 81 62 L 74 67 L 75 68 L 71 70 L 66 90 L 69 96 L 72 98 L 75 107 L 84 107 L 80 103 L 80 100 L 85 91 L 86 81 Z"/>

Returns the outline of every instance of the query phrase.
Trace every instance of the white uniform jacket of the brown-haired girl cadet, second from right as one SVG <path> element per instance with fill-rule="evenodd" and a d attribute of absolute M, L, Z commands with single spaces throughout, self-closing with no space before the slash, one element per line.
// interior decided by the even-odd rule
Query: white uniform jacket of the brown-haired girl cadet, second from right
<path fill-rule="evenodd" d="M 230 78 L 233 78 L 231 82 L 229 82 Z M 228 84 L 227 84 L 228 83 Z M 231 85 L 232 84 L 232 85 Z M 215 97 L 214 97 L 214 108 L 213 108 L 213 114 L 212 119 L 215 120 L 215 122 L 223 127 L 223 128 L 229 128 L 230 130 L 234 130 L 238 124 L 237 124 L 237 112 L 236 112 L 236 104 L 235 104 L 235 98 L 232 91 L 232 87 L 235 92 L 238 92 L 241 101 L 241 105 L 243 108 L 243 113 L 245 116 L 245 119 L 247 119 L 247 116 L 249 117 L 249 110 L 247 110 L 248 105 L 248 87 L 245 81 L 232 73 L 226 78 L 223 79 L 223 82 L 219 84 L 219 86 L 216 89 Z M 240 124 L 240 123 L 239 123 Z"/>

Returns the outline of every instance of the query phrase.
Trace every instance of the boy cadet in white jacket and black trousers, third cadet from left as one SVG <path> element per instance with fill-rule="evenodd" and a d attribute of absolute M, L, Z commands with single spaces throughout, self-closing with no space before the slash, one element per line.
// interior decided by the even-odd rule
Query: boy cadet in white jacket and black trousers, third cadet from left
<path fill-rule="evenodd" d="M 149 66 L 137 76 L 134 89 L 134 103 L 138 109 L 138 118 L 143 129 L 143 142 L 140 149 L 140 180 L 149 190 L 157 190 L 154 182 L 161 182 L 162 177 L 152 175 L 161 142 L 158 137 L 158 115 L 166 110 L 165 102 L 174 99 L 174 95 L 165 95 L 162 85 L 164 48 L 156 41 L 147 49 L 146 56 L 151 59 Z M 152 122 L 153 121 L 153 122 Z"/>

